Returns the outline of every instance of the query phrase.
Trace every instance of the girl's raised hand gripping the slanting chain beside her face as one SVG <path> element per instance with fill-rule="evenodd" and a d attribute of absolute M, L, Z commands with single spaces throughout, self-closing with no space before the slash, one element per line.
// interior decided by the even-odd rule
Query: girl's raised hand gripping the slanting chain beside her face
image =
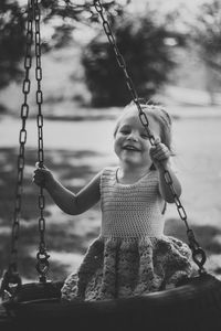
<path fill-rule="evenodd" d="M 151 146 L 149 149 L 149 156 L 157 169 L 161 166 L 165 166 L 169 161 L 170 150 L 168 147 L 160 142 L 160 139 L 155 140 L 155 146 Z"/>

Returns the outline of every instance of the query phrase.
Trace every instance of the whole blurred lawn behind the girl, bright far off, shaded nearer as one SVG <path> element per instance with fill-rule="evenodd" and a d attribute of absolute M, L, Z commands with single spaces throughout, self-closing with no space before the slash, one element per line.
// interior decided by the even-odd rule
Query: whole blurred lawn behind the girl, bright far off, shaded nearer
<path fill-rule="evenodd" d="M 187 114 L 187 113 L 183 113 Z M 208 255 L 207 268 L 221 275 L 221 206 L 219 194 L 221 156 L 220 117 L 186 118 L 175 116 L 176 167 L 182 181 L 182 202 L 196 237 Z M 10 122 L 10 125 L 9 125 Z M 0 134 L 0 269 L 7 268 L 14 209 L 19 121 L 2 119 Z M 7 125 L 8 124 L 8 125 Z M 32 183 L 36 161 L 34 122 L 30 124 L 23 183 L 22 214 L 19 236 L 19 271 L 23 280 L 38 278 L 35 270 L 39 246 L 39 189 Z M 53 128 L 53 129 L 52 129 Z M 112 145 L 113 119 L 45 120 L 45 164 L 64 185 L 80 190 L 101 168 L 115 164 Z M 2 138 L 2 139 L 1 139 Z M 76 270 L 90 243 L 98 235 L 99 205 L 80 216 L 61 212 L 45 193 L 45 242 L 50 254 L 49 279 L 64 279 Z M 176 206 L 168 207 L 166 234 L 185 242 L 186 228 Z"/>

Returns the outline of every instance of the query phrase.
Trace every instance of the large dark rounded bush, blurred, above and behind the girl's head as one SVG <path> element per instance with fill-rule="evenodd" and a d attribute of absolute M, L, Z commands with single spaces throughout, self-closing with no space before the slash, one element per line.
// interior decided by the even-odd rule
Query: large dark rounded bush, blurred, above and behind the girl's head
<path fill-rule="evenodd" d="M 175 66 L 168 40 L 176 43 L 180 36 L 157 25 L 152 12 L 139 18 L 122 13 L 112 17 L 109 25 L 139 97 L 151 97 Z M 131 99 L 103 31 L 88 43 L 82 62 L 94 106 L 122 106 Z"/>

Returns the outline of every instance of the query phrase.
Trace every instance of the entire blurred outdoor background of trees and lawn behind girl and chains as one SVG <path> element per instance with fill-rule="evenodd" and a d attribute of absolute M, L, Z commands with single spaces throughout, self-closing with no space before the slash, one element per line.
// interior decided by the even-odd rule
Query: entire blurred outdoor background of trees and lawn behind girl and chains
<path fill-rule="evenodd" d="M 206 268 L 221 276 L 221 1 L 102 1 L 139 97 L 164 105 L 173 120 L 173 163 L 182 183 L 189 226 L 207 253 Z M 44 162 L 77 192 L 103 167 L 117 162 L 115 119 L 131 97 L 93 1 L 42 0 L 41 67 Z M 105 14 L 105 15 L 106 15 Z M 0 2 L 0 273 L 10 259 L 14 222 L 22 92 L 28 62 L 27 1 Z M 29 76 L 25 167 L 17 241 L 23 281 L 38 279 L 38 106 L 34 47 Z M 23 88 L 24 89 L 24 88 Z M 45 192 L 49 279 L 75 271 L 99 234 L 99 205 L 70 216 Z M 187 242 L 176 205 L 166 234 Z"/>

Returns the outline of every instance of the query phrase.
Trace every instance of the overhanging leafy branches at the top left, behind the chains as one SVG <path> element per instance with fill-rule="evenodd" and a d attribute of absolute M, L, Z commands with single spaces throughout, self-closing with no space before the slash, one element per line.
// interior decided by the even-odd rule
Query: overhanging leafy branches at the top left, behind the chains
<path fill-rule="evenodd" d="M 28 2 L 28 0 L 27 0 Z M 53 28 L 46 42 L 42 39 L 42 51 L 62 47 L 72 40 L 72 32 L 77 23 L 92 24 L 97 21 L 97 14 L 92 1 L 73 4 L 70 0 L 42 0 L 41 28 Z M 22 2 L 23 3 L 23 2 Z M 110 11 L 120 10 L 114 1 L 107 1 L 105 7 Z M 20 79 L 22 70 L 20 63 L 25 52 L 27 4 L 17 0 L 0 1 L 0 88 L 12 79 Z M 42 31 L 42 29 L 41 29 Z"/>

